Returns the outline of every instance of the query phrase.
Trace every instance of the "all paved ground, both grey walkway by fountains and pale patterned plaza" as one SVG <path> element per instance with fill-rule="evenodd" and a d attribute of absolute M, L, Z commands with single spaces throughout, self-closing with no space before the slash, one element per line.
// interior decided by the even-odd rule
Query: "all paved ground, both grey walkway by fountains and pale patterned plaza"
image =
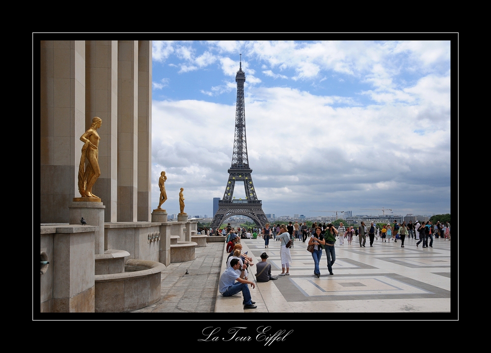
<path fill-rule="evenodd" d="M 355 238 L 356 239 L 356 238 Z M 368 240 L 368 239 L 367 239 Z M 244 251 L 261 261 L 266 252 L 272 274 L 281 272 L 280 242 L 271 239 L 265 249 L 262 239 L 241 240 Z M 325 252 L 321 277 L 313 275 L 314 261 L 307 243 L 291 248 L 293 264 L 289 276 L 256 283 L 250 288 L 257 309 L 245 313 L 449 313 L 450 241 L 435 239 L 433 248 L 416 247 L 416 241 L 382 243 L 370 247 L 353 241 L 336 245 L 334 275 L 329 275 Z M 162 299 L 134 312 L 215 312 L 218 278 L 228 254 L 223 243 L 196 248 L 193 261 L 171 264 L 162 272 Z M 255 273 L 255 268 L 252 268 Z M 186 270 L 189 274 L 185 274 Z M 255 281 L 253 276 L 249 280 Z"/>

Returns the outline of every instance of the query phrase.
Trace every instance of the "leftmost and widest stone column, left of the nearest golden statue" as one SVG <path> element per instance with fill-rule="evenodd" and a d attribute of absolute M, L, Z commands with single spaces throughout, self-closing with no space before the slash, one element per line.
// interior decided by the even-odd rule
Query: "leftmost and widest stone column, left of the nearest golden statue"
<path fill-rule="evenodd" d="M 85 42 L 41 41 L 41 222 L 68 222 L 85 132 Z"/>

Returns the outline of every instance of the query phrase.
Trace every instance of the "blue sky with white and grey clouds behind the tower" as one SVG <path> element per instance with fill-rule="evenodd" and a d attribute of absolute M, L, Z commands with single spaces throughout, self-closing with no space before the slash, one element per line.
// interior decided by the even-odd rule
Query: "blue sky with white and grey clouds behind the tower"
<path fill-rule="evenodd" d="M 450 213 L 449 41 L 153 41 L 153 206 L 162 170 L 169 213 L 223 196 L 239 54 L 265 213 Z"/>

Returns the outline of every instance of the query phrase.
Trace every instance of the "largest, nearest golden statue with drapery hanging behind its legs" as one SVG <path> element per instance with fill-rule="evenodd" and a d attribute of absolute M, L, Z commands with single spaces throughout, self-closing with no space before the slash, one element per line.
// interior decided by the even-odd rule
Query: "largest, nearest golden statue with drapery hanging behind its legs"
<path fill-rule="evenodd" d="M 99 198 L 92 193 L 92 187 L 101 175 L 101 168 L 99 167 L 99 141 L 101 137 L 97 133 L 97 129 L 101 125 L 102 119 L 95 116 L 90 128 L 80 136 L 83 147 L 79 165 L 79 192 L 82 197 Z M 87 167 L 85 167 L 85 159 L 88 162 Z"/>

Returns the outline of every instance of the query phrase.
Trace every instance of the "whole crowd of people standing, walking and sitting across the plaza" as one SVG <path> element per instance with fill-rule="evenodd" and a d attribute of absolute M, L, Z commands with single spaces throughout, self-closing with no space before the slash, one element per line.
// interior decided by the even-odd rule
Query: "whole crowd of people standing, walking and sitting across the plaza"
<path fill-rule="evenodd" d="M 368 235 L 370 246 L 373 246 L 374 241 L 380 238 L 382 243 L 387 243 L 387 241 L 390 243 L 392 239 L 392 242 L 397 243 L 397 241 L 400 241 L 401 247 L 405 247 L 404 241 L 408 237 L 408 239 L 418 240 L 416 247 L 422 243 L 422 247 L 427 248 L 433 247 L 434 238 L 448 239 L 450 241 L 450 223 L 437 221 L 436 224 L 432 224 L 431 221 L 422 223 L 418 221 L 413 224 L 412 221 L 409 221 L 406 224 L 404 221 L 402 223 L 394 222 L 393 224 L 387 223 L 386 225 L 380 226 L 374 222 L 371 222 L 370 225 L 365 225 L 364 222 L 361 222 L 357 227 L 345 227 L 340 222 L 336 228 L 332 223 L 321 224 L 314 222 L 309 227 L 306 222 L 299 224 L 296 221 L 295 224 L 289 222 L 288 225 L 273 224 L 270 226 L 269 223 L 266 223 L 264 228 L 238 228 L 237 230 L 228 223 L 227 227 L 220 234 L 227 235 L 226 249 L 230 255 L 227 259 L 227 270 L 220 277 L 219 291 L 225 297 L 242 292 L 244 296 L 244 308 L 253 309 L 257 306 L 251 300 L 248 284 L 254 288 L 254 283 L 248 280 L 248 275 L 250 271 L 249 267 L 254 266 L 254 264 L 252 258 L 247 256 L 247 252 L 242 252 L 240 239 L 243 237 L 256 238 L 259 235 L 264 240 L 265 248 L 269 248 L 270 239 L 281 242 L 280 276 L 290 275 L 290 264 L 292 263 L 290 248 L 294 247 L 296 241 L 305 243 L 307 238 L 309 238 L 307 250 L 311 252 L 314 260 L 314 275 L 319 278 L 321 276 L 320 262 L 323 249 L 327 257 L 327 270 L 330 275 L 334 274 L 332 272 L 332 265 L 336 261 L 335 245 L 337 241 L 339 242 L 338 245 L 345 244 L 345 240 L 348 242 L 348 245 L 352 245 L 353 239 L 357 238 L 359 246 L 365 247 Z M 268 255 L 263 252 L 261 254 L 261 262 L 258 263 L 256 269 L 256 281 L 266 282 L 277 279 L 277 276 L 271 275 L 271 265 L 267 263 L 267 258 Z"/>

